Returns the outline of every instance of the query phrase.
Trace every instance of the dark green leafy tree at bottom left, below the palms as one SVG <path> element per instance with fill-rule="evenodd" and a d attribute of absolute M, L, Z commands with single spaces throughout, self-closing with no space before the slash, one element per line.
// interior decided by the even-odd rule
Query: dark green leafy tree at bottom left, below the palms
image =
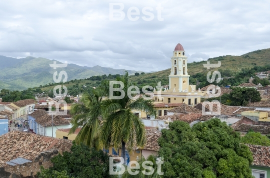
<path fill-rule="evenodd" d="M 53 167 L 42 169 L 37 178 L 115 178 L 109 175 L 109 157 L 106 153 L 83 144 L 71 147 L 50 160 Z"/>

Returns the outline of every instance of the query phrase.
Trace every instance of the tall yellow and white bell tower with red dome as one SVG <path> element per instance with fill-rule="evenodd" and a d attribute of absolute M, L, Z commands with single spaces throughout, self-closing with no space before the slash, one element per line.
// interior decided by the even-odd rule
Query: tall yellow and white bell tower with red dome
<path fill-rule="evenodd" d="M 175 46 L 170 62 L 169 91 L 187 92 L 189 86 L 187 57 L 184 55 L 184 49 L 180 43 Z"/>

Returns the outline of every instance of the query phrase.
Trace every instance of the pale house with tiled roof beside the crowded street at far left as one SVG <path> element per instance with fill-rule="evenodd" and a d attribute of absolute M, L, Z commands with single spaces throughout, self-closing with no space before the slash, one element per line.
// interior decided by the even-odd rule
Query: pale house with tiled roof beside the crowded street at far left
<path fill-rule="evenodd" d="M 26 99 L 13 102 L 10 105 L 19 107 L 19 110 L 17 111 L 16 115 L 17 117 L 20 117 L 32 113 L 34 110 L 35 103 L 36 101 L 33 99 Z"/>

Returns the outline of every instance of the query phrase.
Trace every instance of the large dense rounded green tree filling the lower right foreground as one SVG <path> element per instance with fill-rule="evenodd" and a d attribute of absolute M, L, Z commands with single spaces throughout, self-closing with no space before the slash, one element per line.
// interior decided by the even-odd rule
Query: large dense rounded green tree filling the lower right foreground
<path fill-rule="evenodd" d="M 219 119 L 197 123 L 174 121 L 161 130 L 159 155 L 164 178 L 253 178 L 252 153 L 239 133 Z"/>

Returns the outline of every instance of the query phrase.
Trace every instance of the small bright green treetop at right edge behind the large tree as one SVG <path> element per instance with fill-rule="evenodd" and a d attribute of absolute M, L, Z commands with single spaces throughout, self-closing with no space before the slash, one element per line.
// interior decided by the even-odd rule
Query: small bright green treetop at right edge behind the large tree
<path fill-rule="evenodd" d="M 241 138 L 241 142 L 251 145 L 270 146 L 270 140 L 267 138 L 267 136 L 263 136 L 259 132 L 248 132 Z"/>

